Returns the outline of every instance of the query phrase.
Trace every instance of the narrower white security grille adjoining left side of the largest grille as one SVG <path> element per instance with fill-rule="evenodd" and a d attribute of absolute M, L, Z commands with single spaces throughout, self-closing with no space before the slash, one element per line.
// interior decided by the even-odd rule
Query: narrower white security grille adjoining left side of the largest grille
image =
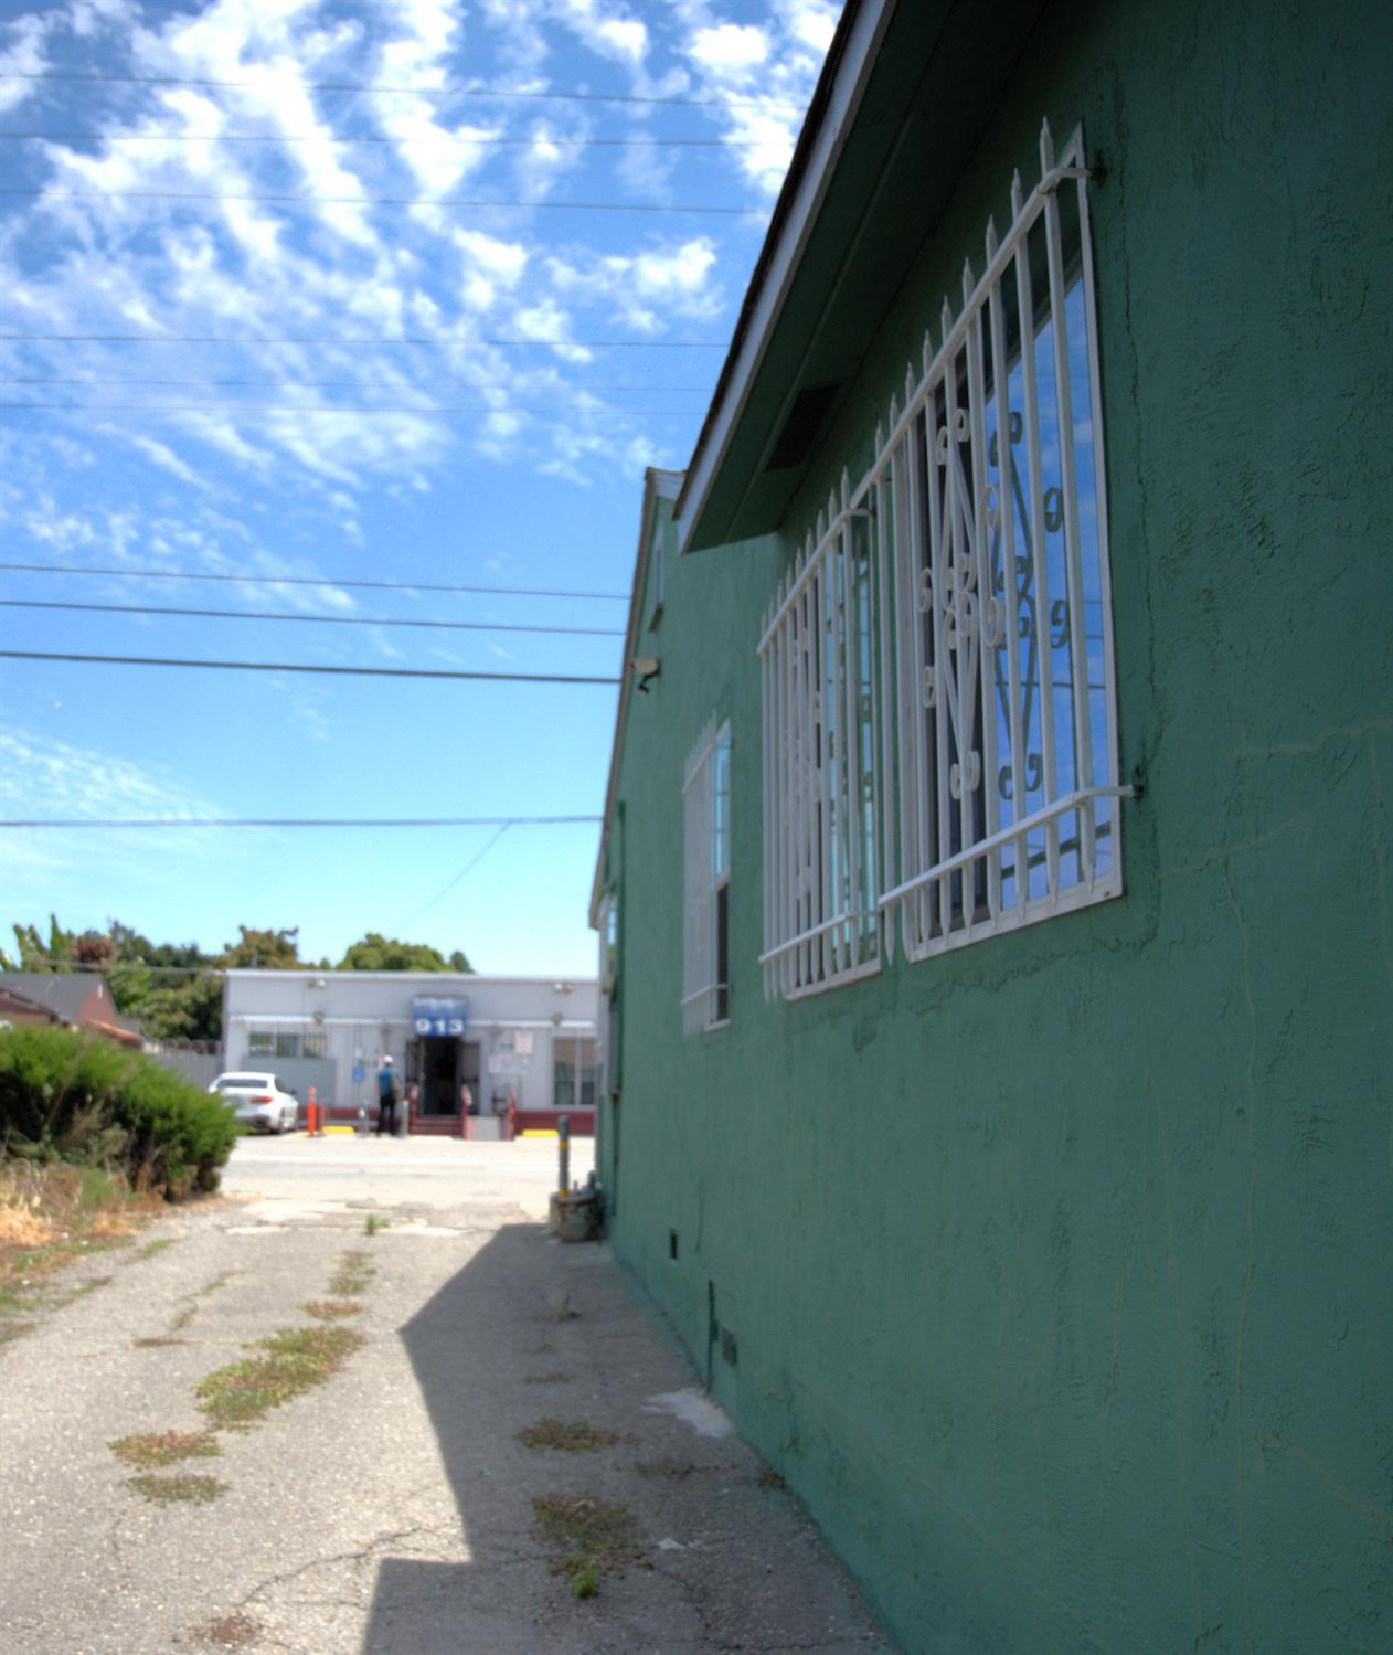
<path fill-rule="evenodd" d="M 764 993 L 880 968 L 880 609 L 869 510 L 827 501 L 764 617 Z"/>

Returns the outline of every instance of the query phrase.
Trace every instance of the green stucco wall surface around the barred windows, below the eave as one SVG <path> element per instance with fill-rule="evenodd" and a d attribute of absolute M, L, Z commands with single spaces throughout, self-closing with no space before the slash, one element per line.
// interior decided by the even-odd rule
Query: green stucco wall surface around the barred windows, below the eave
<path fill-rule="evenodd" d="M 754 645 L 784 543 L 670 566 L 640 639 L 614 1245 L 703 1369 L 713 1294 L 716 1395 L 910 1652 L 1393 1648 L 1390 17 L 1051 7 L 786 525 L 864 460 L 1041 116 L 1082 121 L 1146 776 L 1120 900 L 766 1005 Z M 685 1039 L 711 712 L 731 1023 Z"/>

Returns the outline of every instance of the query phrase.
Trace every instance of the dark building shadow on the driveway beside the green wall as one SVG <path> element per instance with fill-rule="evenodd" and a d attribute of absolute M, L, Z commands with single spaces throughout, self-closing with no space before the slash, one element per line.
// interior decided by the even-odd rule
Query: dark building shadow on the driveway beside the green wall
<path fill-rule="evenodd" d="M 650 1407 L 693 1375 L 606 1248 L 506 1225 L 400 1337 L 455 1511 L 422 1494 L 428 1516 L 379 1564 L 364 1655 L 887 1648 L 738 1438 Z M 614 1440 L 596 1453 L 523 1446 L 518 1432 L 543 1417 Z M 390 1433 L 384 1443 L 390 1453 Z M 649 1557 L 606 1574 L 586 1602 L 533 1534 L 536 1496 L 581 1493 L 629 1506 Z"/>

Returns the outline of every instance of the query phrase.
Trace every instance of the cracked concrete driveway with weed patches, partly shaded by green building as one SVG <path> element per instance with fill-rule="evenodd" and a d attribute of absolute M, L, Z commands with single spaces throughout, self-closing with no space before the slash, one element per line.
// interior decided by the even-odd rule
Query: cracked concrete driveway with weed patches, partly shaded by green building
<path fill-rule="evenodd" d="M 549 1144 L 248 1140 L 228 1200 L 76 1266 L 93 1291 L 0 1347 L 0 1643 L 888 1648 L 607 1250 L 548 1240 L 553 1172 Z M 111 1442 L 205 1432 L 200 1380 L 316 1327 L 362 1344 L 250 1428 L 218 1428 L 213 1456 L 149 1473 L 164 1501 L 131 1486 Z M 543 1418 L 584 1420 L 597 1442 L 524 1446 Z M 170 1481 L 195 1498 L 169 1498 Z M 594 1597 L 574 1595 L 538 1531 L 548 1496 L 582 1524 L 632 1514 L 630 1561 L 606 1569 L 624 1547 L 572 1542 L 599 1546 Z"/>

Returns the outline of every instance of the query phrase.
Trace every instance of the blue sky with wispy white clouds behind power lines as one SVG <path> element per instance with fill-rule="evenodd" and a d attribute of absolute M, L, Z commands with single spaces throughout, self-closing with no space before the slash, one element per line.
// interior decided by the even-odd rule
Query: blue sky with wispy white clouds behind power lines
<path fill-rule="evenodd" d="M 614 675 L 615 636 L 258 617 L 622 629 L 614 597 L 339 583 L 627 592 L 642 470 L 690 457 L 837 10 L 3 0 L 0 132 L 25 136 L 0 174 L 33 194 L 0 195 L 0 561 L 51 569 L 0 569 L 0 597 L 238 617 L 0 607 L 0 647 Z M 0 818 L 597 814 L 614 707 L 3 660 Z M 56 912 L 207 948 L 298 925 L 316 958 L 381 930 L 577 975 L 596 844 L 5 829 L 0 945 Z"/>

